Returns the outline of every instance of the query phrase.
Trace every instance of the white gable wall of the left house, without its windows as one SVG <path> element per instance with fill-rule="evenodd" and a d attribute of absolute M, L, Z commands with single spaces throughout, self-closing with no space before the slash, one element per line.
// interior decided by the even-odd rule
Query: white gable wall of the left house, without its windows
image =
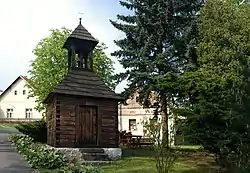
<path fill-rule="evenodd" d="M 25 86 L 26 81 L 19 79 L 7 90 L 0 100 L 0 118 L 7 118 L 7 109 L 13 109 L 12 118 L 25 118 L 25 109 L 32 109 L 31 118 L 41 118 L 42 114 L 34 109 L 36 106 L 35 98 L 27 98 L 29 89 Z M 23 95 L 23 90 L 26 91 Z M 15 95 L 17 91 L 17 95 Z"/>

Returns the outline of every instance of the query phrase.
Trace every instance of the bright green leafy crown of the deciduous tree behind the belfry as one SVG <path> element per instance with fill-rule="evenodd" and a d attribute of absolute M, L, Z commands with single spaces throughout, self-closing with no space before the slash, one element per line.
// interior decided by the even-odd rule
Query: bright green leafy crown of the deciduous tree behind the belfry
<path fill-rule="evenodd" d="M 42 101 L 53 88 L 64 78 L 67 73 L 67 50 L 63 44 L 71 33 L 67 28 L 52 29 L 48 37 L 38 42 L 33 50 L 36 56 L 30 64 L 30 97 L 35 97 L 36 109 L 44 110 Z M 113 80 L 114 63 L 105 54 L 107 47 L 100 43 L 94 50 L 93 68 L 95 73 L 112 89 L 115 87 Z"/>

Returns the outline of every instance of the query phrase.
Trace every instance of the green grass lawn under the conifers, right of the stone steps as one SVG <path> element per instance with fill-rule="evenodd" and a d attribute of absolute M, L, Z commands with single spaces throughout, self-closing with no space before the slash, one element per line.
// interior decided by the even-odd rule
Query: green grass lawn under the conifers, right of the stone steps
<path fill-rule="evenodd" d="M 153 152 L 146 149 L 124 149 L 123 159 L 102 166 L 104 173 L 156 173 Z M 177 160 L 173 173 L 214 173 L 214 158 L 206 152 L 185 152 Z"/>

